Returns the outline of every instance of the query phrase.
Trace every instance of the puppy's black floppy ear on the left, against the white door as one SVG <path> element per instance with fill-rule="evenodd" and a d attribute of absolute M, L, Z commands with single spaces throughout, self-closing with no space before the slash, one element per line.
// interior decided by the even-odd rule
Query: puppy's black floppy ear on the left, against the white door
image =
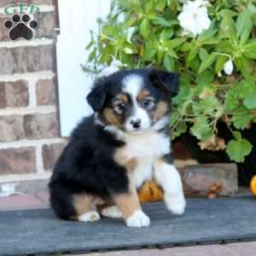
<path fill-rule="evenodd" d="M 102 110 L 104 102 L 107 97 L 108 84 L 103 81 L 98 81 L 94 85 L 94 88 L 90 91 L 86 97 L 90 107 L 95 111 L 99 112 Z"/>

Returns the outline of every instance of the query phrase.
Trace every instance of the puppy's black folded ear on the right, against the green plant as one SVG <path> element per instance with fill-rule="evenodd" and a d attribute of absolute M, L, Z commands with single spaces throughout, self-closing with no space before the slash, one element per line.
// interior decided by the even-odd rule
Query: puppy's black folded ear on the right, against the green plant
<path fill-rule="evenodd" d="M 151 69 L 149 71 L 149 79 L 161 90 L 165 90 L 172 96 L 177 95 L 179 80 L 178 73 L 169 73 L 157 69 Z"/>

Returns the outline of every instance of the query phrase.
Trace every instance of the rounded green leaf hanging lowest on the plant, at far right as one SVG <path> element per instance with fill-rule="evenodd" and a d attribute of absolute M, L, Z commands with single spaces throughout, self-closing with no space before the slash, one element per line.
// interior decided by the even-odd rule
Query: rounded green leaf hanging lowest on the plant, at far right
<path fill-rule="evenodd" d="M 250 154 L 253 145 L 247 139 L 231 140 L 226 148 L 226 153 L 229 155 L 230 160 L 235 160 L 241 163 L 245 160 L 245 156 Z"/>

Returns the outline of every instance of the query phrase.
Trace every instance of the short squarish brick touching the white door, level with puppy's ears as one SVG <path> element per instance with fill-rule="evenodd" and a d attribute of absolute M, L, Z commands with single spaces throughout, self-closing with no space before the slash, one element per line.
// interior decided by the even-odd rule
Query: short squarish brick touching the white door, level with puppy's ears
<path fill-rule="evenodd" d="M 38 81 L 37 99 L 39 106 L 55 104 L 55 84 L 53 79 Z"/>

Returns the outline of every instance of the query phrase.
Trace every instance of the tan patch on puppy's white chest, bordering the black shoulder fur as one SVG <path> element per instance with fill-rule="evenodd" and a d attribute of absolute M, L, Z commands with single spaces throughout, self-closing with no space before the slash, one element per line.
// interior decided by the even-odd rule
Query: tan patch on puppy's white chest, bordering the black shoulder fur
<path fill-rule="evenodd" d="M 137 166 L 137 159 L 135 157 L 128 159 L 126 157 L 126 147 L 118 148 L 113 155 L 113 159 L 120 165 L 124 166 L 128 172 L 132 172 Z"/>

